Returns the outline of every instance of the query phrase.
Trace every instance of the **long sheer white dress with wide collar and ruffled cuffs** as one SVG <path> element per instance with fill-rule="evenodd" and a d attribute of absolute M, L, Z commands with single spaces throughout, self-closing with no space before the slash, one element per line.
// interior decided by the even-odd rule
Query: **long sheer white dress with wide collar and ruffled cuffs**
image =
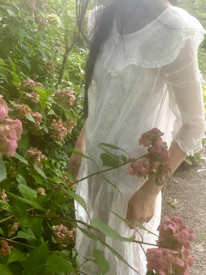
<path fill-rule="evenodd" d="M 94 23 L 95 9 L 89 14 L 90 32 Z M 145 153 L 145 149 L 139 146 L 139 137 L 153 127 L 165 133 L 163 140 L 168 145 L 172 139 L 175 140 L 187 155 L 193 155 L 201 149 L 205 118 L 197 52 L 203 34 L 205 30 L 201 23 L 185 10 L 174 6 L 141 30 L 124 35 L 123 39 L 114 23 L 95 63 L 89 87 L 85 155 L 95 159 L 102 167 L 102 151 L 97 144 L 106 142 L 123 148 L 132 157 L 138 157 Z M 82 159 L 78 178 L 93 172 L 93 162 Z M 91 219 L 100 219 L 120 235 L 130 237 L 133 230 L 111 210 L 126 217 L 128 200 L 144 184 L 144 180 L 129 175 L 125 166 L 104 173 L 104 176 L 122 194 L 100 177 L 81 181 L 76 192 L 87 202 Z M 156 232 L 160 217 L 159 193 L 155 216 L 145 224 L 146 228 Z M 87 213 L 78 203 L 76 218 L 89 223 Z M 141 234 L 144 241 L 149 243 L 155 243 L 157 239 L 147 232 Z M 135 235 L 140 240 L 138 234 Z M 145 255 L 137 243 L 114 241 L 109 237 L 104 241 L 141 275 L 146 274 Z M 76 248 L 80 263 L 84 262 L 84 257 L 93 259 L 93 250 L 100 249 L 110 264 L 108 275 L 137 274 L 108 249 L 104 249 L 100 242 L 92 241 L 80 230 Z M 91 261 L 82 265 L 80 270 L 89 275 L 100 274 Z"/>

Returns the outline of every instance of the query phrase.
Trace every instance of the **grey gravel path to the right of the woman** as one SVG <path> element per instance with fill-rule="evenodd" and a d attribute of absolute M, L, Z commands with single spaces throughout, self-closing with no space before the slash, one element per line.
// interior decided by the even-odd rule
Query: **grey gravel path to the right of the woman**
<path fill-rule="evenodd" d="M 179 216 L 194 229 L 192 243 L 194 265 L 190 275 L 206 274 L 206 146 L 201 151 L 202 162 L 196 166 L 181 165 L 163 193 L 163 215 Z M 170 202 L 171 198 L 171 202 Z M 174 203 L 174 200 L 178 203 Z"/>

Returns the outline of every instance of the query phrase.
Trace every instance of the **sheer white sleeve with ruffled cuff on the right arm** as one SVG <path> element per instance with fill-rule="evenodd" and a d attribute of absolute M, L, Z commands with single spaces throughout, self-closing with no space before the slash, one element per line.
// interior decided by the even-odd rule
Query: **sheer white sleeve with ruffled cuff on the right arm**
<path fill-rule="evenodd" d="M 192 39 L 166 67 L 166 83 L 175 116 L 172 138 L 187 155 L 194 155 L 202 147 L 206 125 L 198 48 Z"/>

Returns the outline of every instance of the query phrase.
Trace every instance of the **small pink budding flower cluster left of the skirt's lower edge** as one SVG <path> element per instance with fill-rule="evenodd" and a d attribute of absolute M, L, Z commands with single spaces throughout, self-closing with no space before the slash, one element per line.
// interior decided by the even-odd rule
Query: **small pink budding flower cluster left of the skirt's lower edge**
<path fill-rule="evenodd" d="M 52 228 L 56 236 L 56 242 L 60 248 L 67 248 L 68 245 L 74 243 L 76 237 L 76 228 L 69 230 L 65 225 L 54 225 Z"/>

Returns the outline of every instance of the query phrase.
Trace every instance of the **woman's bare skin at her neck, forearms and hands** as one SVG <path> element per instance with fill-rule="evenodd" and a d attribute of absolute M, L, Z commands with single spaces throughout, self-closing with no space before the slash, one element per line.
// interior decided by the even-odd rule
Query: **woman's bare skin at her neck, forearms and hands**
<path fill-rule="evenodd" d="M 108 6 L 113 3 L 114 0 L 101 0 L 100 3 L 102 5 Z M 161 12 L 165 8 L 168 8 L 170 5 L 167 1 L 163 0 L 142 0 L 144 1 L 144 4 L 146 5 L 146 8 L 144 8 L 144 5 L 139 6 L 139 9 L 137 9 L 133 16 L 130 17 L 130 20 L 126 23 L 126 26 L 124 28 L 124 34 L 134 32 L 135 30 L 139 30 L 144 27 L 144 25 L 147 25 L 154 19 L 154 17 L 157 17 L 159 14 L 158 12 Z M 155 9 L 155 7 L 157 9 Z M 128 7 L 128 12 L 133 7 Z M 160 8 L 160 9 L 159 9 Z M 118 28 L 118 19 L 117 19 L 117 28 Z M 75 150 L 79 151 L 81 153 L 84 152 L 85 148 L 85 129 L 86 129 L 86 122 L 84 123 L 84 126 L 82 127 L 82 131 L 78 137 L 78 140 L 76 142 Z M 178 144 L 176 142 L 172 142 L 170 145 L 170 170 L 171 174 L 174 173 L 176 168 L 179 167 L 181 162 L 183 162 L 183 159 L 185 159 L 186 154 L 179 148 Z M 133 156 L 134 157 L 134 156 Z M 82 158 L 78 155 L 72 154 L 69 162 L 67 164 L 68 169 L 72 170 L 74 175 L 78 175 L 78 171 L 80 169 Z M 126 213 L 126 219 L 132 224 L 130 226 L 131 229 L 137 227 L 137 221 L 141 223 L 148 223 L 150 219 L 155 214 L 155 202 L 157 195 L 161 191 L 161 188 L 163 186 L 157 186 L 155 184 L 155 181 L 152 179 L 148 179 L 145 181 L 144 185 L 137 190 L 133 194 L 133 196 L 128 201 L 128 210 Z"/>

